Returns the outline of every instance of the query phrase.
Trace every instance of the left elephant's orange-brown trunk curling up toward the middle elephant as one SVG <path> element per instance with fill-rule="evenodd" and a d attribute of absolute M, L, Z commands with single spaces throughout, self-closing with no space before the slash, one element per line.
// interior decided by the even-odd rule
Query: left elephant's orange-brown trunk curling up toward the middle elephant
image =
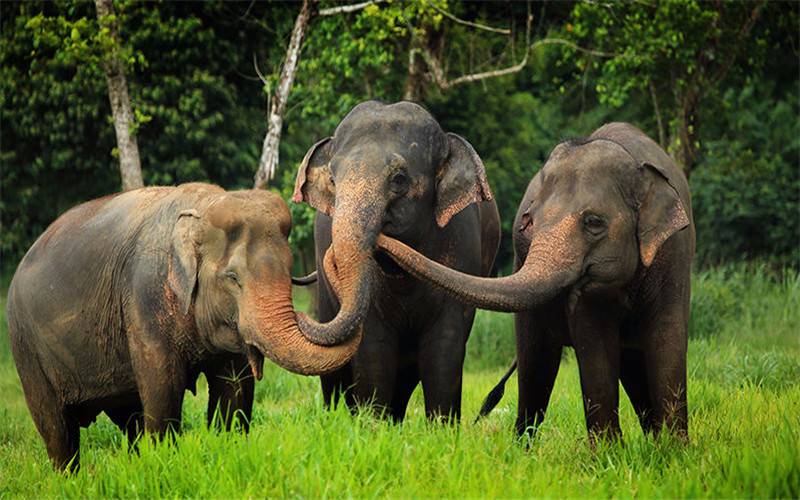
<path fill-rule="evenodd" d="M 302 330 L 304 314 L 292 306 L 292 286 L 288 277 L 264 290 L 251 292 L 248 307 L 252 314 L 240 319 L 240 331 L 264 356 L 279 366 L 301 375 L 323 375 L 347 363 L 361 343 L 360 323 L 346 328 L 346 338 L 336 345 L 320 345 L 309 340 Z M 305 318 L 305 319 L 303 319 Z M 243 323 L 244 322 L 244 323 Z"/>

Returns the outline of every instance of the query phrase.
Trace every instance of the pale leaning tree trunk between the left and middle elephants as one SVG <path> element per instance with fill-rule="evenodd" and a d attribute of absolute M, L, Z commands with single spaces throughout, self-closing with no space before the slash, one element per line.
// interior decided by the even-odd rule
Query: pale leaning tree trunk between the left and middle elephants
<path fill-rule="evenodd" d="M 99 1 L 99 0 L 98 0 Z M 261 189 L 275 175 L 278 166 L 278 149 L 281 143 L 281 129 L 283 128 L 283 114 L 286 111 L 286 101 L 292 91 L 297 64 L 300 62 L 300 49 L 306 35 L 308 24 L 314 15 L 317 0 L 303 0 L 303 6 L 292 28 L 292 37 L 289 47 L 286 48 L 286 60 L 283 62 L 278 88 L 272 97 L 267 121 L 267 135 L 261 148 L 261 158 L 258 161 L 254 187 Z"/>

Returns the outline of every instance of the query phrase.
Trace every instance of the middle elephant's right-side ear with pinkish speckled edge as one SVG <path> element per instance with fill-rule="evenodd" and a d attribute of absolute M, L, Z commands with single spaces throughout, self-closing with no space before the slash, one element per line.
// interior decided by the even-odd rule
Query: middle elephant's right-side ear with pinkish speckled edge
<path fill-rule="evenodd" d="M 472 145 L 461 136 L 448 133 L 450 153 L 436 173 L 436 223 L 444 227 L 454 215 L 471 203 L 489 201 L 492 191 L 486 168 Z"/>

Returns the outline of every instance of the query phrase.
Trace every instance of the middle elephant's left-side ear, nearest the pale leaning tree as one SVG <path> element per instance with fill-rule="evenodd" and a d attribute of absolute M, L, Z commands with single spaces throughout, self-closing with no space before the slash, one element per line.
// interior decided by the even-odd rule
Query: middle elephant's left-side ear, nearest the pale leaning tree
<path fill-rule="evenodd" d="M 336 187 L 330 168 L 331 138 L 311 146 L 297 169 L 292 201 L 306 202 L 326 215 L 333 214 Z"/>

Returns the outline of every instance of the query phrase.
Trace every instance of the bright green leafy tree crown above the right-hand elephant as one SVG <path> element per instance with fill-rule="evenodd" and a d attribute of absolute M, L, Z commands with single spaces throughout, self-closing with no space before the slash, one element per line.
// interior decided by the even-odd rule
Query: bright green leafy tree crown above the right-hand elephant
<path fill-rule="evenodd" d="M 763 39 L 745 43 L 741 35 L 762 7 L 763 2 L 698 0 L 579 2 L 565 31 L 578 44 L 606 56 L 568 50 L 564 57 L 575 58 L 579 69 L 591 72 L 601 103 L 619 108 L 632 99 L 647 102 L 655 96 L 664 126 L 674 129 L 679 120 L 689 119 L 683 113 L 693 113 L 696 99 L 715 90 L 740 52 L 749 57 L 735 70 L 763 60 Z"/>

